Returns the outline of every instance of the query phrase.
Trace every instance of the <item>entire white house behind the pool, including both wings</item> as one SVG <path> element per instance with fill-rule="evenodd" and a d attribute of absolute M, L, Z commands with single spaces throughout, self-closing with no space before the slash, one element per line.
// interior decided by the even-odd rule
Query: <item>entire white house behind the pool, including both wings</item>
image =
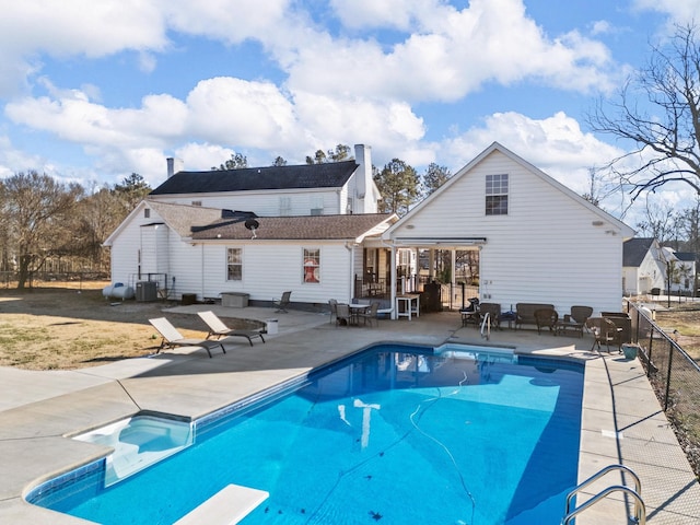
<path fill-rule="evenodd" d="M 254 304 L 291 290 L 300 306 L 373 294 L 387 307 L 398 277 L 419 271 L 419 250 L 451 250 L 453 268 L 454 253 L 474 250 L 479 296 L 502 310 L 621 308 L 622 243 L 634 232 L 501 144 L 400 220 L 375 213 L 369 152 L 355 147 L 357 162 L 173 173 L 107 240 L 113 282 L 156 280 L 159 293 L 198 300 L 241 292 Z"/>

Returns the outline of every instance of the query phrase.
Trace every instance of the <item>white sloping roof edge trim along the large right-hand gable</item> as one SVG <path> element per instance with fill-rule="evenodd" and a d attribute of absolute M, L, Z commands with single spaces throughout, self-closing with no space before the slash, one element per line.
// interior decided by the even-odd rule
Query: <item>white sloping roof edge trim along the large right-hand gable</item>
<path fill-rule="evenodd" d="M 515 153 L 513 153 L 511 150 L 509 150 L 508 148 L 503 147 L 499 142 L 493 142 L 486 150 L 483 150 L 481 153 L 479 153 L 471 162 L 469 162 L 466 166 L 464 166 L 462 170 L 459 170 L 457 173 L 455 173 L 452 177 L 450 177 L 450 179 L 447 179 L 447 182 L 445 184 L 443 184 L 440 188 L 438 188 L 435 191 L 433 191 L 431 195 L 429 195 L 422 201 L 420 201 L 418 205 L 416 205 L 408 213 L 406 213 L 401 219 L 399 219 L 399 221 L 396 224 L 393 224 L 392 228 L 389 229 L 389 232 L 387 232 L 387 234 L 384 235 L 384 236 L 385 237 L 390 236 L 390 233 L 393 231 L 395 231 L 398 228 L 400 228 L 405 222 L 410 221 L 412 219 L 412 215 L 418 213 L 429 202 L 431 202 L 432 200 L 439 198 L 441 194 L 443 194 L 444 191 L 448 191 L 450 187 L 453 184 L 456 184 L 456 182 L 459 178 L 462 178 L 463 176 L 468 174 L 475 166 L 477 166 L 480 162 L 482 162 L 486 158 L 488 158 L 494 151 L 498 151 L 498 152 L 504 154 L 511 161 L 520 164 L 521 166 L 523 166 L 525 170 L 527 170 L 533 175 L 539 177 L 540 179 L 542 179 L 547 184 L 556 187 L 557 189 L 559 189 L 559 191 L 561 191 L 562 194 L 564 194 L 564 195 L 569 196 L 570 198 L 574 199 L 579 205 L 587 208 L 590 211 L 592 211 L 594 214 L 598 215 L 600 219 L 614 224 L 620 231 L 620 234 L 622 235 L 622 237 L 631 237 L 632 235 L 634 235 L 634 230 L 632 230 L 630 226 L 625 224 L 619 219 L 616 219 L 615 217 L 609 214 L 607 211 L 605 211 L 605 210 L 598 208 L 597 206 L 588 202 L 583 197 L 581 197 L 579 194 L 576 194 L 572 189 L 568 188 L 563 184 L 559 183 L 553 177 L 547 175 L 545 172 L 542 172 L 538 167 L 534 166 L 533 164 L 530 164 L 529 162 L 527 162 L 523 158 L 516 155 Z"/>

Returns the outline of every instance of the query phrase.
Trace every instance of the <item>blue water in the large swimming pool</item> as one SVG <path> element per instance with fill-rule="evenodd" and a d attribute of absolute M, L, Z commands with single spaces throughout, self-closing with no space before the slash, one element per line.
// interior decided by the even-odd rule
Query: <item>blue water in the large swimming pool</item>
<path fill-rule="evenodd" d="M 558 524 L 578 475 L 583 365 L 381 346 L 223 417 L 112 487 L 104 469 L 31 502 L 172 524 L 229 483 L 269 492 L 243 524 Z M 56 486 L 56 487 L 54 487 Z"/>

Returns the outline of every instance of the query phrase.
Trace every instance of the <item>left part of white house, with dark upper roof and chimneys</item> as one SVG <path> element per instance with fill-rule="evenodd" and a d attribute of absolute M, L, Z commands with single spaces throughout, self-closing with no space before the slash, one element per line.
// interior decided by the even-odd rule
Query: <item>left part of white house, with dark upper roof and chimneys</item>
<path fill-rule="evenodd" d="M 376 213 L 370 150 L 355 161 L 178 172 L 107 238 L 112 281 L 155 281 L 170 299 L 240 292 L 269 303 L 349 302 L 369 260 L 385 260 L 380 235 L 397 220 Z M 168 171 L 174 162 L 168 160 Z M 388 273 L 386 265 L 377 268 Z"/>

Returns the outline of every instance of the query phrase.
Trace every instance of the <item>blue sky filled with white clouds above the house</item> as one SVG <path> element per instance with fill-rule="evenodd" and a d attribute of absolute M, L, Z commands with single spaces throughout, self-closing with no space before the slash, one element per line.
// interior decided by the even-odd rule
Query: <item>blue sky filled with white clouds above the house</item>
<path fill-rule="evenodd" d="M 581 194 L 629 148 L 586 113 L 700 13 L 700 0 L 3 3 L 0 177 L 86 187 L 133 172 L 155 187 L 167 156 L 293 164 L 338 143 L 371 145 L 380 168 L 454 173 L 499 141 Z M 692 198 L 669 187 L 651 202 Z"/>

